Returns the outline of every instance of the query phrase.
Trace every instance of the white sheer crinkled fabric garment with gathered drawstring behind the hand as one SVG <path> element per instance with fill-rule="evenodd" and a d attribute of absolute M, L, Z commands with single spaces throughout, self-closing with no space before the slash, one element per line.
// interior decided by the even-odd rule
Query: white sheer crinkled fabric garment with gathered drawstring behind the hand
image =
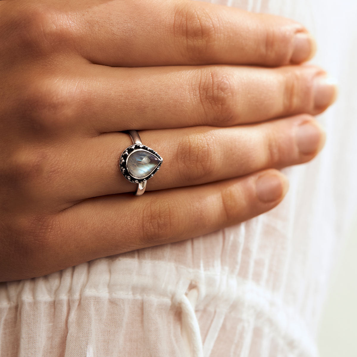
<path fill-rule="evenodd" d="M 236 0 L 296 19 L 338 79 L 323 153 L 284 170 L 273 211 L 180 243 L 0 284 L 0 355 L 313 357 L 326 282 L 356 206 L 357 2 Z"/>

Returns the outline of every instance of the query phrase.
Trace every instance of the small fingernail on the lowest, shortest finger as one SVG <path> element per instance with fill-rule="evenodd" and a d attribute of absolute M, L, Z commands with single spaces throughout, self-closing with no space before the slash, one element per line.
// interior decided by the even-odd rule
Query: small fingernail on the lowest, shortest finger
<path fill-rule="evenodd" d="M 274 174 L 261 175 L 256 181 L 257 197 L 262 202 L 273 202 L 284 192 L 282 180 Z"/>

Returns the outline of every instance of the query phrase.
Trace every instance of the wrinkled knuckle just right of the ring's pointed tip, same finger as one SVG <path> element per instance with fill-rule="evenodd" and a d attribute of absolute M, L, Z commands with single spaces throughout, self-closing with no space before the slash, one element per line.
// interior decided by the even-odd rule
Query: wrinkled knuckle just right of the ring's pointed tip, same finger
<path fill-rule="evenodd" d="M 215 142 L 212 135 L 188 134 L 180 140 L 176 155 L 182 182 L 198 184 L 214 176 Z"/>

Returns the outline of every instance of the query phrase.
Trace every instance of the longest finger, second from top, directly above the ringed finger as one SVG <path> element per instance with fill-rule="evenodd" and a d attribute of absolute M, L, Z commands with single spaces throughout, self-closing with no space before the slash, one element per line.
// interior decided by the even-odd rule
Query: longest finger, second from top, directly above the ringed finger
<path fill-rule="evenodd" d="M 130 129 L 224 127 L 300 113 L 316 115 L 336 95 L 325 72 L 311 65 L 276 69 L 90 65 L 85 73 L 79 79 L 62 81 L 71 92 L 67 96 L 71 111 L 59 113 L 63 122 L 63 113 L 68 112 L 78 132 L 86 130 L 90 136 Z"/>

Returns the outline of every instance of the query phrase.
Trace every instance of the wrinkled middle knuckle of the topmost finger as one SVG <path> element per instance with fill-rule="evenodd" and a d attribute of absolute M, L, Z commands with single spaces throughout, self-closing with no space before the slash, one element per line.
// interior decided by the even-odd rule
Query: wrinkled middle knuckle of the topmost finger
<path fill-rule="evenodd" d="M 174 12 L 174 36 L 185 44 L 186 55 L 195 62 L 212 56 L 220 25 L 218 18 L 202 6 L 185 4 Z"/>

